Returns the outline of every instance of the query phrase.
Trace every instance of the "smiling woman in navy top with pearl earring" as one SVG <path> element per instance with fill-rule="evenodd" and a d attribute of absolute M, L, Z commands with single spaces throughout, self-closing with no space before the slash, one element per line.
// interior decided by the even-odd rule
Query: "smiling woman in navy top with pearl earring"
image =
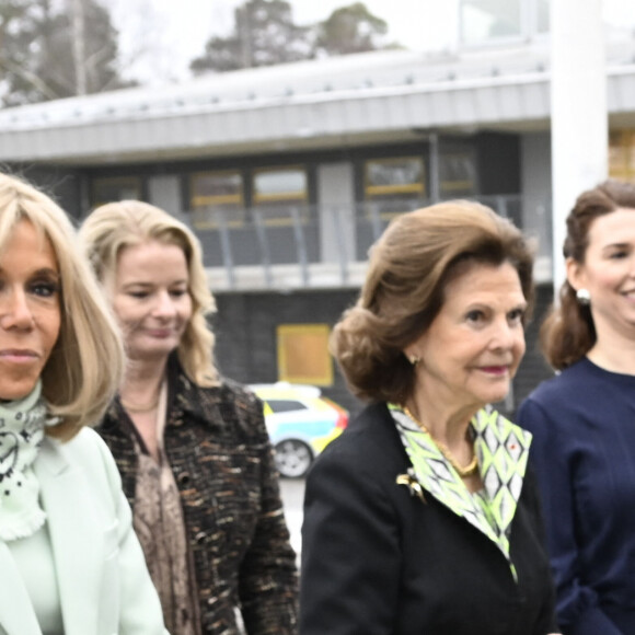
<path fill-rule="evenodd" d="M 559 372 L 521 405 L 533 434 L 565 635 L 635 633 L 635 185 L 582 193 L 567 279 L 541 330 Z"/>

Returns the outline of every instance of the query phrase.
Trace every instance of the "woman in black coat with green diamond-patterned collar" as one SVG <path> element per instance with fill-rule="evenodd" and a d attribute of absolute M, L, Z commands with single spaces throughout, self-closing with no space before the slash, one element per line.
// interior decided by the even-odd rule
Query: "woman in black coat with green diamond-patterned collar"
<path fill-rule="evenodd" d="M 488 404 L 524 353 L 532 250 L 482 205 L 395 218 L 332 351 L 370 404 L 307 480 L 301 635 L 555 632 L 531 436 Z"/>

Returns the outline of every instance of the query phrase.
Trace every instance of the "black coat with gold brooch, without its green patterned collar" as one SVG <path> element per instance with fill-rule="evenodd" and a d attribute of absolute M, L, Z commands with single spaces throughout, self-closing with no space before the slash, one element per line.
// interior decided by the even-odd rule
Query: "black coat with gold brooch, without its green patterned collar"
<path fill-rule="evenodd" d="M 424 490 L 384 404 L 367 407 L 313 465 L 300 576 L 301 635 L 546 635 L 553 588 L 528 472 L 511 526 L 515 581 L 499 549 Z"/>

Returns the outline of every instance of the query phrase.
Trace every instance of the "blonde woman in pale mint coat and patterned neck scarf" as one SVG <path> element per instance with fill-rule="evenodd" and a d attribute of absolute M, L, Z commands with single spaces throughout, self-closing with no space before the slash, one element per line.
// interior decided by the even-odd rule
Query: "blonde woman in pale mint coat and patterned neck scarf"
<path fill-rule="evenodd" d="M 2 633 L 165 633 L 117 467 L 88 427 L 123 369 L 69 218 L 0 174 Z"/>

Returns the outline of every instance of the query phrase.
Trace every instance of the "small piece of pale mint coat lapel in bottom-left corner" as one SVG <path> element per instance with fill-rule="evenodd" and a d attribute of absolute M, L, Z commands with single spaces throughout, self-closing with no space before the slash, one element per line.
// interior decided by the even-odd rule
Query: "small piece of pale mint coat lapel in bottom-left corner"
<path fill-rule="evenodd" d="M 4 541 L 0 541 L 0 633 L 42 635 L 20 572 Z"/>

